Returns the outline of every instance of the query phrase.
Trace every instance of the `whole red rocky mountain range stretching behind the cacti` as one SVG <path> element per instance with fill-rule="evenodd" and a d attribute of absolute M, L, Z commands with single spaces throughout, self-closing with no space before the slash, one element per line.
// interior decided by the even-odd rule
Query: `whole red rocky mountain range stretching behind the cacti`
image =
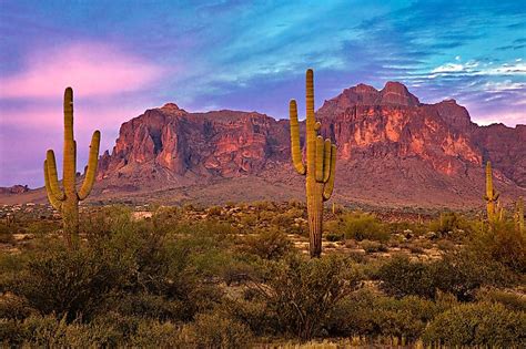
<path fill-rule="evenodd" d="M 398 82 L 380 91 L 346 89 L 316 117 L 338 146 L 340 201 L 478 205 L 487 160 L 500 189 L 526 193 L 525 125 L 478 126 L 454 100 L 424 104 Z M 112 153 L 101 156 L 98 188 L 108 195 L 184 188 L 198 198 L 198 188 L 206 196 L 204 188 L 213 187 L 214 201 L 227 187 L 226 194 L 239 193 L 230 198 L 250 201 L 283 184 L 301 193 L 290 163 L 287 121 L 256 112 L 190 113 L 169 103 L 122 124 Z M 264 184 L 246 192 L 236 186 L 251 177 Z"/>

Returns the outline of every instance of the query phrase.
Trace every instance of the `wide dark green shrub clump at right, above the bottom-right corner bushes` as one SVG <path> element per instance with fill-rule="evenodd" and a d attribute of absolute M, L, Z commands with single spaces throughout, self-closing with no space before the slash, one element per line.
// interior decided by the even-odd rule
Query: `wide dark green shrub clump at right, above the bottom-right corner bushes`
<path fill-rule="evenodd" d="M 461 300 L 471 300 L 482 286 L 506 286 L 509 273 L 498 263 L 462 250 L 451 253 L 432 263 L 411 261 L 397 256 L 381 266 L 376 274 L 381 287 L 396 297 L 421 296 L 434 298 L 436 290 L 455 295 Z"/>

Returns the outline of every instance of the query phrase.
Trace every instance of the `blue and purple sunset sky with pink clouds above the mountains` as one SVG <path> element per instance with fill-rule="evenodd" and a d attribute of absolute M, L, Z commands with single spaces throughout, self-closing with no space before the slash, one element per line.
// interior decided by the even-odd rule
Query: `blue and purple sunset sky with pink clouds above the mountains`
<path fill-rule="evenodd" d="M 62 162 L 74 90 L 79 171 L 92 132 L 174 102 L 287 117 L 315 71 L 316 107 L 357 83 L 455 99 L 479 124 L 526 123 L 526 6 L 497 1 L 0 0 L 0 186 Z M 303 103 L 300 103 L 303 105 Z"/>

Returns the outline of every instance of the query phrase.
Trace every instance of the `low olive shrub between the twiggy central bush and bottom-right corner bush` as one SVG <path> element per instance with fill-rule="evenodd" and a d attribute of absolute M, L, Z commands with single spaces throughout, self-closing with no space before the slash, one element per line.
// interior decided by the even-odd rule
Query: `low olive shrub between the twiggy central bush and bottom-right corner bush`
<path fill-rule="evenodd" d="M 442 307 L 416 296 L 401 299 L 361 289 L 346 297 L 331 319 L 334 336 L 394 337 L 414 341 Z"/>

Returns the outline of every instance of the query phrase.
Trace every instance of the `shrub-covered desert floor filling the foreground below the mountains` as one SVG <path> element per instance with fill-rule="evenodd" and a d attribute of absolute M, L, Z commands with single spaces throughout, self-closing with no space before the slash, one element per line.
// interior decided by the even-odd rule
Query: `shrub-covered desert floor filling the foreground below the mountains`
<path fill-rule="evenodd" d="M 85 208 L 77 250 L 52 216 L 3 219 L 0 342 L 526 345 L 512 217 L 326 211 L 324 256 L 311 259 L 302 203 L 138 209 Z"/>

